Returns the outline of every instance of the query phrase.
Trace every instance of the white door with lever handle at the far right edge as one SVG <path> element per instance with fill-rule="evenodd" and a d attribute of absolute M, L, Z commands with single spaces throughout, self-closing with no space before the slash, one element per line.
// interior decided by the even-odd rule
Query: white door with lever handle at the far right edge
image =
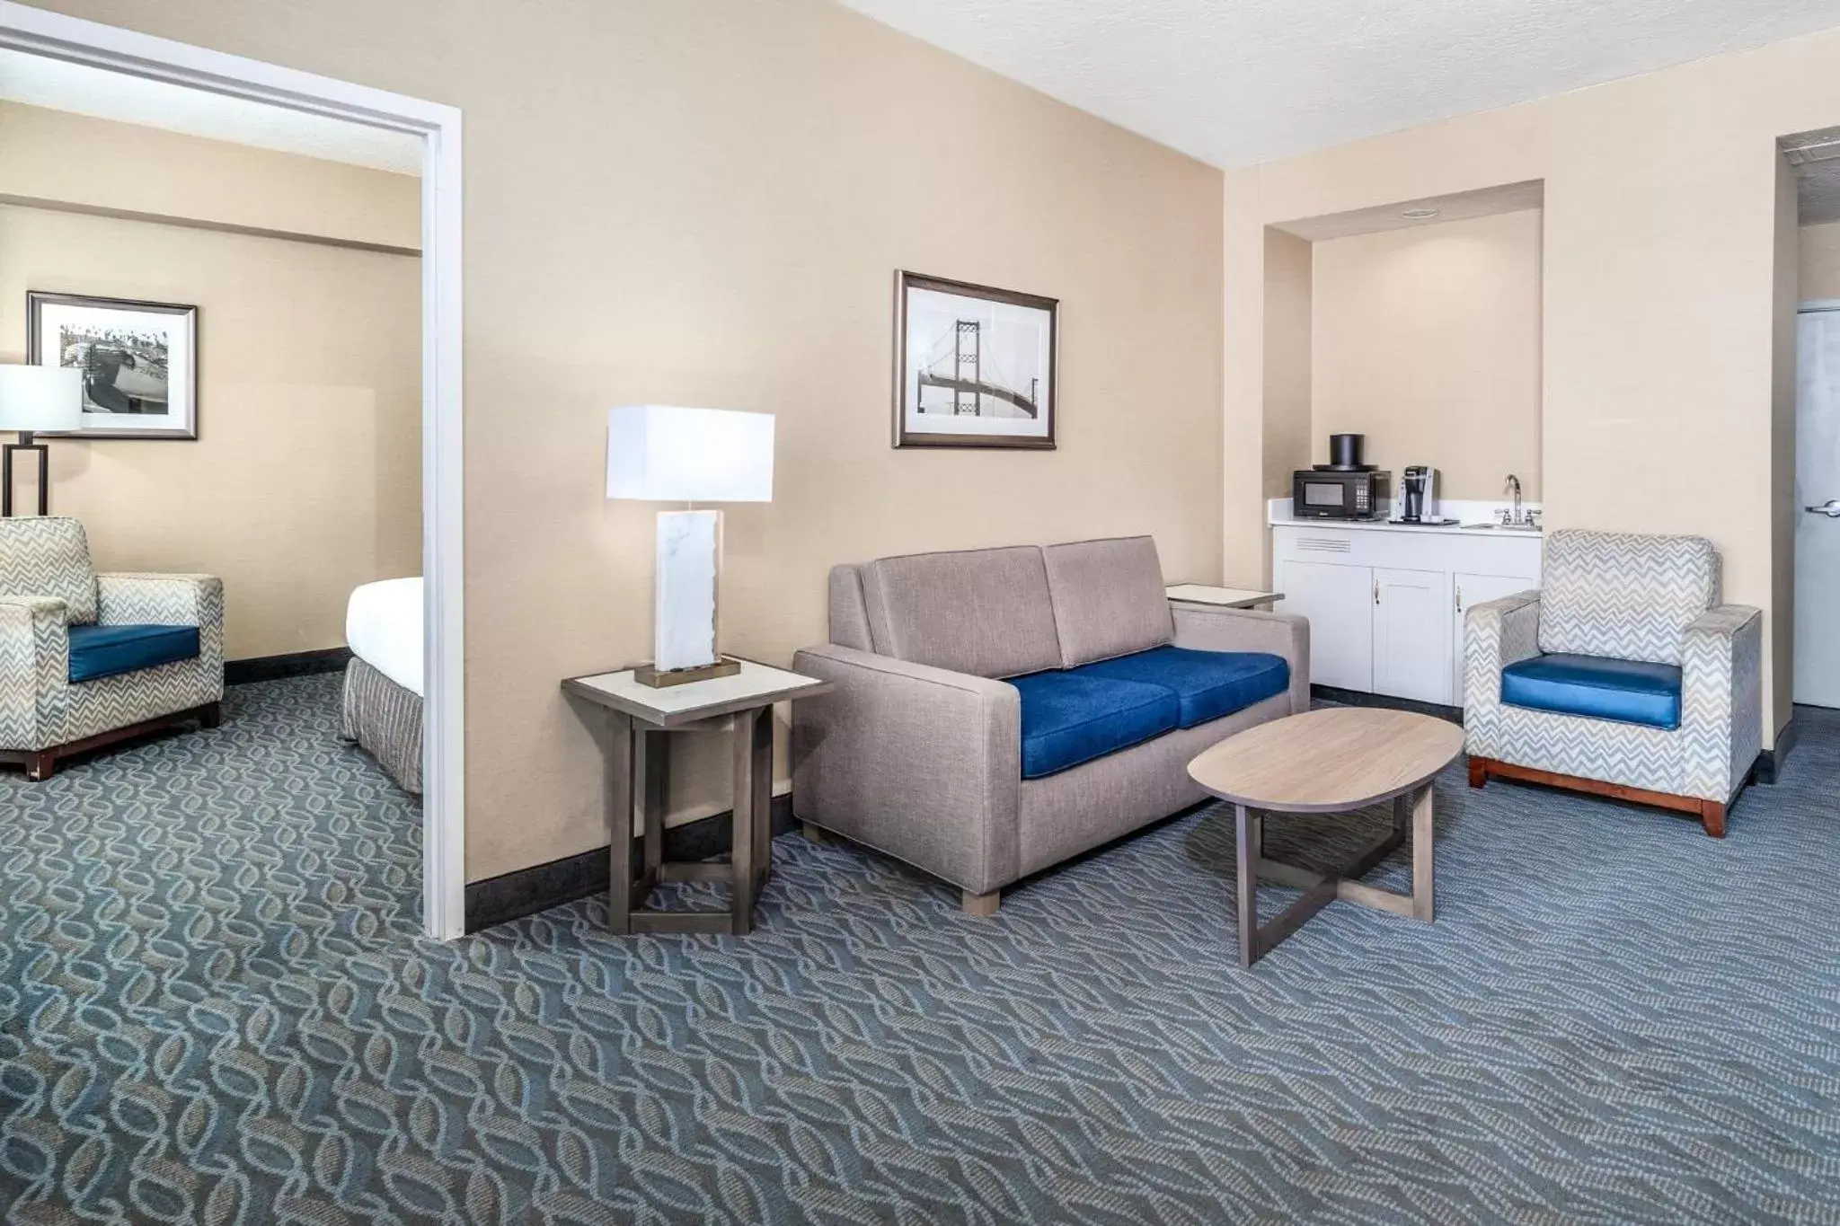
<path fill-rule="evenodd" d="M 1796 320 L 1794 695 L 1840 706 L 1840 311 Z"/>

